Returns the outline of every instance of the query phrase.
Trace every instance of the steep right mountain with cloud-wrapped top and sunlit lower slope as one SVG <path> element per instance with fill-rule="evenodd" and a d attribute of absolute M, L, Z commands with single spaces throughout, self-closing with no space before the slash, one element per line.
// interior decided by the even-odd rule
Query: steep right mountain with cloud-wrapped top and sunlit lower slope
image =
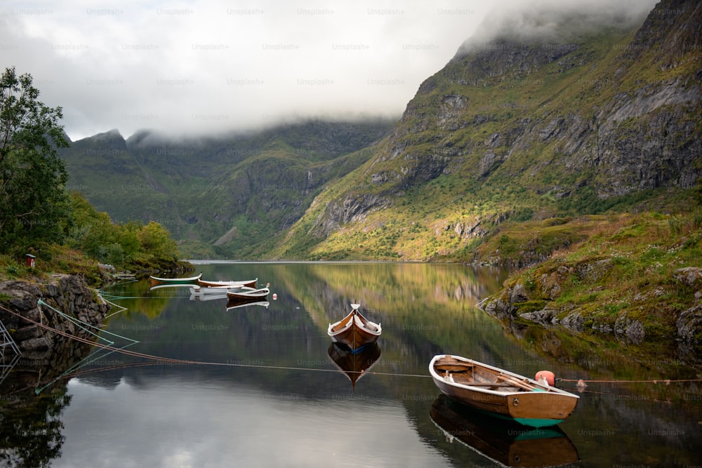
<path fill-rule="evenodd" d="M 278 255 L 465 258 L 505 220 L 637 209 L 696 186 L 702 5 L 661 1 L 606 21 L 530 8 L 488 21 L 426 79 Z"/>

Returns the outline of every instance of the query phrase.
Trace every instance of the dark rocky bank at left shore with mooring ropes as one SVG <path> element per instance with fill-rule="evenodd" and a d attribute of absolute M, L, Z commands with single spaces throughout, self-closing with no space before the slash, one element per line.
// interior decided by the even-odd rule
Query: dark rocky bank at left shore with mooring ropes
<path fill-rule="evenodd" d="M 110 305 L 99 300 L 79 276 L 54 275 L 53 281 L 46 284 L 3 281 L 0 282 L 0 294 L 10 297 L 3 301 L 3 307 L 15 314 L 0 309 L 0 319 L 11 330 L 11 336 L 22 352 L 22 359 L 44 359 L 66 338 L 20 316 L 70 335 L 91 337 L 66 317 L 40 305 L 39 299 L 63 314 L 92 326 L 102 325 L 110 310 Z"/>

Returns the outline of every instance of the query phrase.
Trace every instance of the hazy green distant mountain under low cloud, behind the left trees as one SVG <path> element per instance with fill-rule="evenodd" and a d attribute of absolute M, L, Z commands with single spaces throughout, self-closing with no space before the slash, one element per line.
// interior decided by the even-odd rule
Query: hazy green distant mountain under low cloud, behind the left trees
<path fill-rule="evenodd" d="M 394 121 L 305 121 L 256 133 L 174 140 L 117 130 L 60 155 L 75 189 L 113 220 L 155 220 L 190 258 L 241 258 L 303 215 L 314 196 L 370 157 Z"/>

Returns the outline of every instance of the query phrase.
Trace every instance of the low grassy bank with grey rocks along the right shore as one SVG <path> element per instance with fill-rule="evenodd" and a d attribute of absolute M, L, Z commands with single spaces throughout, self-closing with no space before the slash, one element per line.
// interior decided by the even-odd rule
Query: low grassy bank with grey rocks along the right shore
<path fill-rule="evenodd" d="M 649 351 L 661 347 L 699 366 L 702 207 L 689 201 L 696 208 L 682 213 L 505 226 L 479 248 L 484 258 L 528 257 L 544 247 L 552 255 L 512 275 L 486 298 L 486 309 L 522 323 L 645 342 Z"/>

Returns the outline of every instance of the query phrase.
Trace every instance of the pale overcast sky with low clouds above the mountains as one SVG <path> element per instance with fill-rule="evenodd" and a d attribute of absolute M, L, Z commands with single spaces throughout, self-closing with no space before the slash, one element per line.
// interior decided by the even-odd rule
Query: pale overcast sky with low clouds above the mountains
<path fill-rule="evenodd" d="M 399 117 L 489 8 L 506 4 L 5 0 L 0 57 L 3 68 L 32 74 L 41 101 L 63 108 L 72 140 L 112 128 L 127 138 L 141 128 Z"/>

